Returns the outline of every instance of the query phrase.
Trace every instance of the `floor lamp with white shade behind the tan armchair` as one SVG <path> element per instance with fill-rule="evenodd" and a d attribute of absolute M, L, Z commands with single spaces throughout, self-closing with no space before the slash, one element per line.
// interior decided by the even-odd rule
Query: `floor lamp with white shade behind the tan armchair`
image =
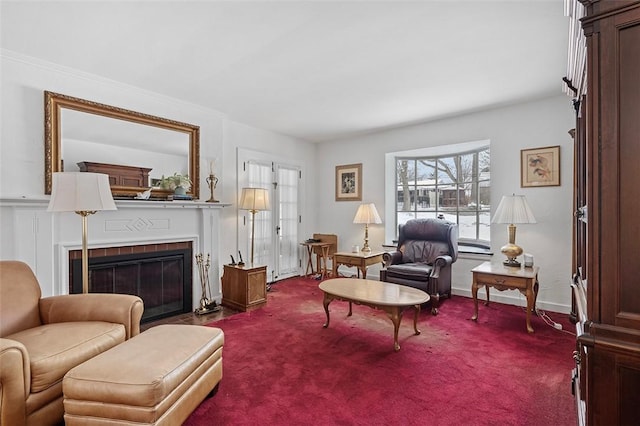
<path fill-rule="evenodd" d="M 49 212 L 76 212 L 82 217 L 82 292 L 89 292 L 87 216 L 99 210 L 116 210 L 109 176 L 102 173 L 53 173 Z"/>

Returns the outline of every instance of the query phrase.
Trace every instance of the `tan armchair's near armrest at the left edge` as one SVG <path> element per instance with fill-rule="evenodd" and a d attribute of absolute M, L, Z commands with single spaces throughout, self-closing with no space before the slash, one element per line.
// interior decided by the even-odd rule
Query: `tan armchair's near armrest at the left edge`
<path fill-rule="evenodd" d="M 31 392 L 27 348 L 15 340 L 0 338 L 0 365 L 0 424 L 25 424 L 25 401 Z"/>

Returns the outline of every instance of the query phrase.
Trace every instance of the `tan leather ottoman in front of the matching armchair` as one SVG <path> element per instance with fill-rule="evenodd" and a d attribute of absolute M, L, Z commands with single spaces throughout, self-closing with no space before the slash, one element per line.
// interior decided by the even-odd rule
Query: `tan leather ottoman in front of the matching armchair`
<path fill-rule="evenodd" d="M 222 379 L 224 333 L 159 325 L 71 369 L 62 381 L 73 425 L 179 425 Z"/>

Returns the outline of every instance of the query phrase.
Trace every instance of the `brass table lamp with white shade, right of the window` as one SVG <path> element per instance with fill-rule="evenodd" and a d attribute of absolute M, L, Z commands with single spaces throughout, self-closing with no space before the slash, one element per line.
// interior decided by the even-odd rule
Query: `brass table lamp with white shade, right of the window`
<path fill-rule="evenodd" d="M 507 260 L 503 262 L 505 266 L 520 267 L 520 262 L 516 257 L 522 254 L 522 248 L 516 245 L 516 223 L 536 223 L 533 212 L 527 204 L 524 195 L 504 195 L 491 223 L 508 223 L 509 224 L 509 242 L 502 246 L 500 251 L 507 256 Z"/>

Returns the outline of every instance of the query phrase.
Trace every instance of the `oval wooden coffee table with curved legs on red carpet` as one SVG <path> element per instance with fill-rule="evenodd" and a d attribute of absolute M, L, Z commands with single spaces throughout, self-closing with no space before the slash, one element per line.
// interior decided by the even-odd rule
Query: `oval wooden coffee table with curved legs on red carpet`
<path fill-rule="evenodd" d="M 420 330 L 418 330 L 420 305 L 429 301 L 429 295 L 422 290 L 404 285 L 356 278 L 334 278 L 321 282 L 319 287 L 324 292 L 323 305 L 327 314 L 327 322 L 323 325 L 324 328 L 329 327 L 329 303 L 333 300 L 342 300 L 349 302 L 348 316 L 352 314 L 352 303 L 386 312 L 391 322 L 393 322 L 393 343 L 396 352 L 400 350 L 398 329 L 400 328 L 402 313 L 406 308 L 412 307 L 414 309 L 413 329 L 415 334 L 420 334 Z"/>

